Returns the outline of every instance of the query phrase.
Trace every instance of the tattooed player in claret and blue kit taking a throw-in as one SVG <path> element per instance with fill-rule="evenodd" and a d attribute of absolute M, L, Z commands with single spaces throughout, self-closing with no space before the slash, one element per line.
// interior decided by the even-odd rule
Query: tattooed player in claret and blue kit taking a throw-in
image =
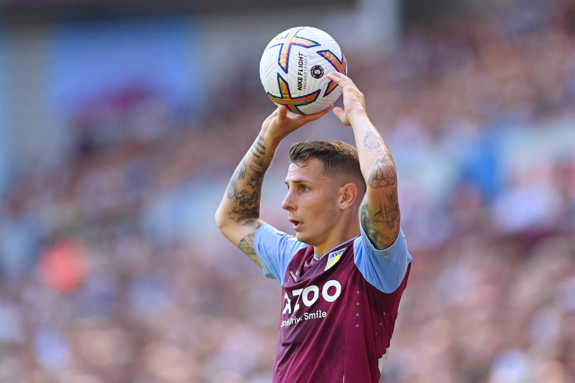
<path fill-rule="evenodd" d="M 279 142 L 331 107 L 311 115 L 278 107 L 216 212 L 225 237 L 282 286 L 274 382 L 378 382 L 411 268 L 392 155 L 351 79 L 327 76 L 343 94 L 344 109 L 333 113 L 351 125 L 357 149 L 291 146 L 282 207 L 296 236 L 260 219 L 263 176 Z"/>

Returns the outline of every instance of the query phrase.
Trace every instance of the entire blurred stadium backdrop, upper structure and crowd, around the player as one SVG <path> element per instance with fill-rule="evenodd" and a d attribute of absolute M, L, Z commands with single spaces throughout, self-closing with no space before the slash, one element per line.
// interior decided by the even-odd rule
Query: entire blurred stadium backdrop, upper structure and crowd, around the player
<path fill-rule="evenodd" d="M 213 215 L 274 109 L 263 48 L 310 25 L 397 164 L 382 381 L 573 382 L 574 4 L 3 1 L 0 380 L 270 381 L 279 286 Z M 283 142 L 262 216 L 288 233 L 306 139 L 353 142 L 331 114 Z"/>

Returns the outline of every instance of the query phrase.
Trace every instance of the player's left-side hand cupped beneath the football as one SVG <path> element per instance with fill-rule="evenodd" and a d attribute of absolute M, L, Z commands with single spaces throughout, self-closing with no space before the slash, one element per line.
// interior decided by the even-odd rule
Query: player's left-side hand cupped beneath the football
<path fill-rule="evenodd" d="M 283 140 L 283 138 L 292 133 L 292 131 L 328 113 L 332 107 L 333 105 L 330 105 L 326 109 L 314 114 L 296 114 L 287 110 L 285 105 L 281 105 L 262 123 L 262 130 L 267 132 L 268 137 Z"/>

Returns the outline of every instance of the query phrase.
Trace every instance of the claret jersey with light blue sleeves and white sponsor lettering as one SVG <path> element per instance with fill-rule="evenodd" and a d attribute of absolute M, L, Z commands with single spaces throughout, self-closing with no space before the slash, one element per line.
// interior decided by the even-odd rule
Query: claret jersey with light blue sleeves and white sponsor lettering
<path fill-rule="evenodd" d="M 403 232 L 377 250 L 362 228 L 317 259 L 264 225 L 254 249 L 282 285 L 274 382 L 378 382 L 411 268 Z"/>

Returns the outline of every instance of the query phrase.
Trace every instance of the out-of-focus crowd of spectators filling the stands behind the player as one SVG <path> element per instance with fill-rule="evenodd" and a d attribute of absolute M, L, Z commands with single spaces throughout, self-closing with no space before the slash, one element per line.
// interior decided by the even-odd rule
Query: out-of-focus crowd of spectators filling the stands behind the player
<path fill-rule="evenodd" d="M 575 381 L 574 12 L 494 3 L 405 25 L 388 55 L 343 47 L 413 257 L 382 381 Z M 73 151 L 5 188 L 0 381 L 271 380 L 279 285 L 213 219 L 274 109 L 250 65 L 200 117 L 145 87 L 94 101 Z M 308 138 L 353 142 L 325 117 L 279 148 L 262 215 L 288 232 L 286 148 Z"/>

